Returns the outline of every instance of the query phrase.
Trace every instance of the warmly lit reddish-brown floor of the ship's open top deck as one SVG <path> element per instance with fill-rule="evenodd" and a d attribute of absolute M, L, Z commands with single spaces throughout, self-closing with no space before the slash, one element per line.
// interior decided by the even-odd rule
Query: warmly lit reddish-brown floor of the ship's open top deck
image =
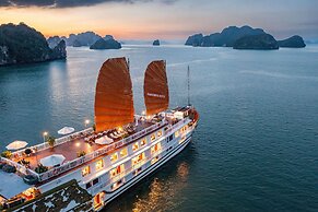
<path fill-rule="evenodd" d="M 138 126 L 133 130 L 133 132 L 129 133 L 129 136 L 133 136 L 134 133 L 149 128 L 150 126 L 154 125 L 153 122 L 150 121 L 139 121 Z M 92 134 L 90 134 L 92 136 Z M 87 136 L 87 137 L 90 137 Z M 26 162 L 30 162 L 28 168 L 35 170 L 35 168 L 38 166 L 39 162 L 42 158 L 50 156 L 52 154 L 61 154 L 66 157 L 64 163 L 73 161 L 78 158 L 78 154 L 80 152 L 85 152 L 85 154 L 92 153 L 98 149 L 102 149 L 106 146 L 107 144 L 97 144 L 95 142 L 87 142 L 85 141 L 85 138 L 80 138 L 80 139 L 72 139 L 71 141 L 58 144 L 54 148 L 49 148 L 46 150 L 38 151 L 36 153 L 32 153 L 31 155 L 24 155 L 17 158 L 13 158 L 14 162 L 19 162 L 21 160 L 24 160 Z M 115 139 L 114 142 L 121 140 L 121 138 Z"/>

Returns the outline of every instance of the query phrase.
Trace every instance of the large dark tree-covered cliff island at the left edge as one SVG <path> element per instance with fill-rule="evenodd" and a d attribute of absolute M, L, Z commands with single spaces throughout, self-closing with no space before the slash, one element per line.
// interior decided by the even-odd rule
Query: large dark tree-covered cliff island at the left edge
<path fill-rule="evenodd" d="M 0 25 L 0 66 L 64 59 L 66 42 L 50 48 L 40 32 L 24 23 Z"/>

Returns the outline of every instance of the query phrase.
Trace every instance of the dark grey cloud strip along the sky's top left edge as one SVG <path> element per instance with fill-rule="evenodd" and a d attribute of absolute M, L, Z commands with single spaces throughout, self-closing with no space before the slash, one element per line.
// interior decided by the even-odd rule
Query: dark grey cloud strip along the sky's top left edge
<path fill-rule="evenodd" d="M 157 1 L 164 4 L 174 3 L 177 0 L 0 0 L 0 7 L 11 8 L 75 8 L 90 7 L 98 3 L 118 2 L 118 3 L 136 3 Z"/>

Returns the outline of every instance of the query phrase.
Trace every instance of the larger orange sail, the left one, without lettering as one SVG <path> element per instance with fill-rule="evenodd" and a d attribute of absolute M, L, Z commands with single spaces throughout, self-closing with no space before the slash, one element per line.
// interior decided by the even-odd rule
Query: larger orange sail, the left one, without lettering
<path fill-rule="evenodd" d="M 111 58 L 99 70 L 95 93 L 96 131 L 133 122 L 132 84 L 125 58 Z"/>

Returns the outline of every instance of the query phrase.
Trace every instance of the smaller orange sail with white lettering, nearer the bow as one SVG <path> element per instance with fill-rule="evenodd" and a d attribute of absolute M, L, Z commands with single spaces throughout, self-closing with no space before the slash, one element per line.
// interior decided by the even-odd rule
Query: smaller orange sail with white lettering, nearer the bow
<path fill-rule="evenodd" d="M 169 105 L 169 90 L 165 61 L 152 61 L 144 73 L 143 85 L 146 115 L 164 111 Z"/>

